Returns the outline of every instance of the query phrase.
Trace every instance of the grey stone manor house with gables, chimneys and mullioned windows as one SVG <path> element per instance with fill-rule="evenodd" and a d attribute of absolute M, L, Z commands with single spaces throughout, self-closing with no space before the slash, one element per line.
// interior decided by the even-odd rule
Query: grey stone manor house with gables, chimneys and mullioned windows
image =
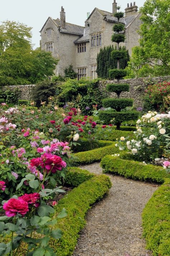
<path fill-rule="evenodd" d="M 61 7 L 60 19 L 49 17 L 41 29 L 42 50 L 51 51 L 53 56 L 60 59 L 55 70 L 56 75 L 63 75 L 64 70 L 72 64 L 77 78 L 83 76 L 94 79 L 96 73 L 96 57 L 101 47 L 114 45 L 111 36 L 112 28 L 118 22 L 113 16 L 117 12 L 117 3 L 112 4 L 112 13 L 95 8 L 85 20 L 85 27 L 66 22 L 66 13 Z M 120 45 L 126 46 L 129 55 L 132 47 L 139 45 L 141 14 L 135 2 L 127 5 L 124 18 L 120 22 L 125 25 L 126 41 Z"/>

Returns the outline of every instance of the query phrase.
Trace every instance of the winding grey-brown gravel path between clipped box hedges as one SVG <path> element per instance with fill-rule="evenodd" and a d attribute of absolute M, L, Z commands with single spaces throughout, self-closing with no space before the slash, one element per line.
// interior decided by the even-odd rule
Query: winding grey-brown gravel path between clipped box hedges
<path fill-rule="evenodd" d="M 81 168 L 102 172 L 99 163 Z M 109 177 L 109 195 L 88 212 L 73 256 L 151 256 L 141 238 L 141 213 L 158 185 Z"/>

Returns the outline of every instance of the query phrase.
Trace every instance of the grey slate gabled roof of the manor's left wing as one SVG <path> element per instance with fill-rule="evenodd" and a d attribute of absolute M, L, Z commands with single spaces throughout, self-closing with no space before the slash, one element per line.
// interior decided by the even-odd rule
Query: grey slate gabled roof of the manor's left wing
<path fill-rule="evenodd" d="M 60 20 L 59 19 L 52 19 L 51 17 L 48 17 L 48 19 L 46 20 L 42 29 L 44 28 L 44 26 L 46 25 L 46 23 L 49 19 L 52 20 L 52 22 L 58 27 L 58 29 L 62 33 L 76 34 L 76 35 L 79 35 L 79 36 L 82 36 L 84 34 L 84 27 L 66 22 L 65 23 L 65 28 L 61 28 Z M 42 29 L 41 29 L 41 31 L 42 31 Z"/>

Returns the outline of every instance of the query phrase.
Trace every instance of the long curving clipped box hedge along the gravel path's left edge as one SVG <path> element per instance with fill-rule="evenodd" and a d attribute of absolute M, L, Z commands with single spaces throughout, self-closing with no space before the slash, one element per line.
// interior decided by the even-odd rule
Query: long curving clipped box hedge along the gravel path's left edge
<path fill-rule="evenodd" d="M 66 208 L 68 215 L 66 218 L 58 220 L 57 228 L 62 229 L 62 238 L 50 240 L 50 245 L 55 249 L 57 256 L 72 255 L 79 232 L 86 224 L 86 212 L 91 208 L 90 205 L 108 193 L 111 186 L 109 177 L 96 176 L 74 188 L 59 201 L 57 212 L 59 213 L 63 208 Z"/>

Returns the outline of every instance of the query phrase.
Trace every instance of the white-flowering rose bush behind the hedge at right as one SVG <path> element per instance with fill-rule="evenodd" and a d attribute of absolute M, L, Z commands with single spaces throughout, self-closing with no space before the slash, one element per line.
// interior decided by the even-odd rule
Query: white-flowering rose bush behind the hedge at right
<path fill-rule="evenodd" d="M 170 112 L 157 114 L 149 111 L 137 120 L 136 139 L 121 137 L 116 146 L 120 150 L 128 149 L 143 161 L 156 161 L 170 154 Z"/>

